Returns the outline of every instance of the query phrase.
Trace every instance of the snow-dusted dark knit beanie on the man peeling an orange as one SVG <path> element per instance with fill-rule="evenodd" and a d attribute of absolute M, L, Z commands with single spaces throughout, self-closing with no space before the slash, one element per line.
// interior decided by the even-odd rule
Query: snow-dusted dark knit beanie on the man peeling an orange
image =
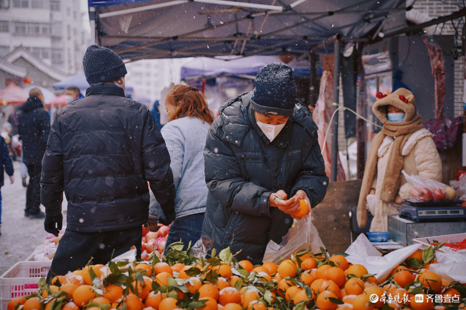
<path fill-rule="evenodd" d="M 296 102 L 293 69 L 281 63 L 268 64 L 254 80 L 251 106 L 263 114 L 292 116 Z"/>

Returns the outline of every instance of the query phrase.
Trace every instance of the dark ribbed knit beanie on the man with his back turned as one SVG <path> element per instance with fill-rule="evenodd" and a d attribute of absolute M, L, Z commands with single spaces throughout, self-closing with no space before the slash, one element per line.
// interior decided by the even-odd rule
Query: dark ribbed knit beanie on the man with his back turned
<path fill-rule="evenodd" d="M 98 45 L 87 48 L 83 66 L 89 84 L 115 81 L 128 73 L 120 56 L 113 50 Z"/>

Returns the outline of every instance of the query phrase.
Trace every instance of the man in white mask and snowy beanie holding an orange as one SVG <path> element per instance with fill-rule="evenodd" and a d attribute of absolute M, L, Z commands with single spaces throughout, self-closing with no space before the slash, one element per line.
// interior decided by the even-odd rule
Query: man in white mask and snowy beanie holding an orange
<path fill-rule="evenodd" d="M 317 126 L 296 100 L 291 67 L 266 65 L 254 91 L 224 103 L 204 149 L 209 188 L 202 235 L 218 251 L 230 247 L 238 261 L 262 263 L 293 224 L 299 199 L 315 207 L 329 179 Z M 291 197 L 287 199 L 288 197 Z"/>

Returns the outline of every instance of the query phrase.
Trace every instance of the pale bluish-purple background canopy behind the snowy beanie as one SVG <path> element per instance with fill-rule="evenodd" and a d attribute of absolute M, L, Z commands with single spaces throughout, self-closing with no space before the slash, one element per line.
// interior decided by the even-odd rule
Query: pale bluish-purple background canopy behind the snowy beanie
<path fill-rule="evenodd" d="M 181 79 L 187 78 L 215 78 L 215 77 L 237 77 L 254 78 L 259 70 L 270 63 L 283 63 L 278 56 L 250 56 L 223 60 L 217 58 L 197 57 L 186 63 L 181 68 Z M 293 60 L 287 65 L 293 68 L 296 78 L 308 78 L 310 67 L 308 61 L 297 62 Z"/>

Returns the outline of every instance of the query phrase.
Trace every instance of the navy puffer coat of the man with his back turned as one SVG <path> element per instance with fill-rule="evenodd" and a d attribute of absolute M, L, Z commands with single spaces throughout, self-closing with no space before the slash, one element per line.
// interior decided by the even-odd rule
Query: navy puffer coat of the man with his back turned
<path fill-rule="evenodd" d="M 61 109 L 42 162 L 41 202 L 79 232 L 140 227 L 149 216 L 149 187 L 162 209 L 174 212 L 170 155 L 149 109 L 107 83 Z"/>

